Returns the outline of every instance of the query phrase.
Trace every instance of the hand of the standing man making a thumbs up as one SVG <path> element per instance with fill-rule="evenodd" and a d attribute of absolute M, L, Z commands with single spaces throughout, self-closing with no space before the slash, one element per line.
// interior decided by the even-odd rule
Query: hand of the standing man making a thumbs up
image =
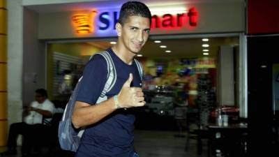
<path fill-rule="evenodd" d="M 130 87 L 133 82 L 133 74 L 130 73 L 128 80 L 123 84 L 118 94 L 119 106 L 121 108 L 140 107 L 145 105 L 144 93 L 140 87 Z"/>

